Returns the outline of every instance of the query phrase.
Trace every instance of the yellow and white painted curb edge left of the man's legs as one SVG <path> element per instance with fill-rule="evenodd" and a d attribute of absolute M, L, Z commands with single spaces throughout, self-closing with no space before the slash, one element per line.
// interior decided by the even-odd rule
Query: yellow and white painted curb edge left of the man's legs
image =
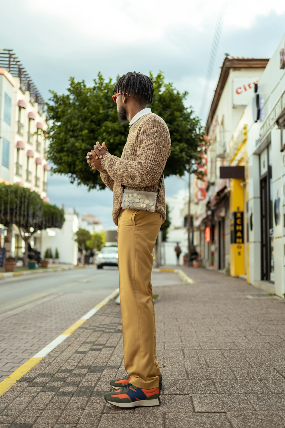
<path fill-rule="evenodd" d="M 0 382 L 0 396 L 4 394 L 4 392 L 8 391 L 11 386 L 15 385 L 15 383 L 21 379 L 24 375 L 26 375 L 29 370 L 35 367 L 44 357 L 47 356 L 53 349 L 55 349 L 60 343 L 62 343 L 65 339 L 68 338 L 75 330 L 77 330 L 82 324 L 85 323 L 89 318 L 91 318 L 99 309 L 103 308 L 110 300 L 117 297 L 119 294 L 119 288 L 116 288 L 109 296 L 107 296 L 104 300 L 98 303 L 94 308 L 92 308 L 89 312 L 83 315 L 78 321 L 71 325 L 67 330 L 65 330 L 62 334 L 60 334 L 56 339 L 50 342 L 47 346 L 45 346 L 41 351 L 35 354 L 32 358 L 29 358 L 26 363 L 22 364 L 18 369 L 15 370 L 11 375 L 6 377 L 6 379 Z"/>

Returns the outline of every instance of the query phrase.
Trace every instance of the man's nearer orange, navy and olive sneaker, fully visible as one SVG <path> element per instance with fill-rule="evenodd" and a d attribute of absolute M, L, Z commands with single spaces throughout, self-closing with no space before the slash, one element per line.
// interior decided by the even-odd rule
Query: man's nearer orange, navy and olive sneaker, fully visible
<path fill-rule="evenodd" d="M 105 395 L 107 403 L 118 407 L 159 406 L 159 388 L 138 388 L 131 383 Z"/>

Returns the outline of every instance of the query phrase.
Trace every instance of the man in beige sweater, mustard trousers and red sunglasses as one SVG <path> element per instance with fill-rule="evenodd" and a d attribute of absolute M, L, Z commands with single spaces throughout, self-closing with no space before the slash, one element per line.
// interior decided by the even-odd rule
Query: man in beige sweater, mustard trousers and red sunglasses
<path fill-rule="evenodd" d="M 153 248 L 165 221 L 163 170 L 171 142 L 166 123 L 151 112 L 153 82 L 140 73 L 119 78 L 113 100 L 121 122 L 129 121 L 122 157 L 111 155 L 105 143 L 88 153 L 92 169 L 99 169 L 113 191 L 113 220 L 118 225 L 120 307 L 126 377 L 111 381 L 117 389 L 105 395 L 118 407 L 159 405 L 161 373 L 156 360 L 156 328 L 150 282 Z M 122 209 L 122 186 L 138 192 L 158 192 L 155 212 Z"/>

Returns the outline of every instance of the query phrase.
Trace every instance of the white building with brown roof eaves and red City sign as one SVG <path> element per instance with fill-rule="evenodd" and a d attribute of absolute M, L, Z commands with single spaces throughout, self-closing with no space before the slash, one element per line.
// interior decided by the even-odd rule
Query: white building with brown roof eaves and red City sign
<path fill-rule="evenodd" d="M 236 264 L 230 251 L 229 180 L 220 179 L 220 166 L 232 162 L 229 145 L 233 131 L 253 96 L 255 83 L 259 82 L 267 62 L 268 59 L 226 56 L 221 67 L 205 129 L 210 140 L 207 186 L 204 187 L 207 193 L 201 202 L 196 187 L 192 188 L 191 193 L 194 245 L 207 268 L 230 270 Z M 232 270 L 232 274 L 235 275 L 235 270 Z"/>

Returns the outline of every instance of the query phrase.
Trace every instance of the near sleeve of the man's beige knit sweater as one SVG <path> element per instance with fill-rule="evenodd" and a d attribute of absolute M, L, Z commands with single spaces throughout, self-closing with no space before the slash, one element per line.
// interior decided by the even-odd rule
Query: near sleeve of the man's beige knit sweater
<path fill-rule="evenodd" d="M 160 120 L 151 119 L 141 128 L 135 160 L 120 159 L 106 153 L 101 165 L 109 176 L 120 184 L 147 187 L 159 181 L 170 151 L 171 142 L 167 126 Z"/>

